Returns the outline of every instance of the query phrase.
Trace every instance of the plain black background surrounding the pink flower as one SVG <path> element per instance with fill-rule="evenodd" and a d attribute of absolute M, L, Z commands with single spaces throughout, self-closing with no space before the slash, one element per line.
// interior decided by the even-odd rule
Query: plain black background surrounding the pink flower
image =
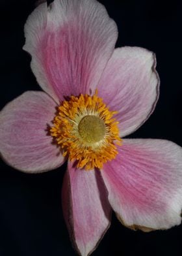
<path fill-rule="evenodd" d="M 23 25 L 36 1 L 0 1 L 1 108 L 27 90 L 38 90 L 23 52 Z M 116 21 L 116 46 L 141 46 L 157 54 L 161 96 L 151 118 L 129 137 L 164 138 L 182 146 L 180 1 L 101 1 Z M 23 174 L 0 163 L 0 255 L 75 255 L 62 216 L 60 191 L 66 165 L 44 174 Z M 143 233 L 112 225 L 93 256 L 180 255 L 182 226 Z"/>

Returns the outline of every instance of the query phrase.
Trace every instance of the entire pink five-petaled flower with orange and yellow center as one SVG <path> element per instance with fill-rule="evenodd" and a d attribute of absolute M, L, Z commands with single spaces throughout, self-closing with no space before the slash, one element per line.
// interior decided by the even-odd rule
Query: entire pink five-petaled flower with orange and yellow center
<path fill-rule="evenodd" d="M 181 223 L 181 148 L 123 139 L 157 103 L 155 55 L 138 47 L 114 50 L 117 36 L 98 1 L 42 3 L 25 24 L 24 50 L 44 92 L 27 91 L 0 114 L 0 151 L 12 167 L 45 172 L 68 159 L 62 208 L 83 256 L 109 228 L 112 209 L 131 229 Z"/>

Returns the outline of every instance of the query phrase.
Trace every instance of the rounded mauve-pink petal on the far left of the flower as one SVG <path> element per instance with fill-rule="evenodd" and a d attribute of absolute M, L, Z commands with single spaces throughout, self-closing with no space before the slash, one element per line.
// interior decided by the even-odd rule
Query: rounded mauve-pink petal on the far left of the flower
<path fill-rule="evenodd" d="M 45 172 L 64 162 L 47 128 L 56 103 L 41 91 L 27 91 L 0 113 L 0 152 L 5 161 L 23 172 Z"/>

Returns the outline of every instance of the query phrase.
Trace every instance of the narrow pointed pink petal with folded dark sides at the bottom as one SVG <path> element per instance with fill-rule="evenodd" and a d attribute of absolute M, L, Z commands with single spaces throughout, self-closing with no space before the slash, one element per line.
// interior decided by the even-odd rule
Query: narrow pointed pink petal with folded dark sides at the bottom
<path fill-rule="evenodd" d="M 110 225 L 111 208 L 99 170 L 77 169 L 68 162 L 62 208 L 75 248 L 90 255 Z"/>

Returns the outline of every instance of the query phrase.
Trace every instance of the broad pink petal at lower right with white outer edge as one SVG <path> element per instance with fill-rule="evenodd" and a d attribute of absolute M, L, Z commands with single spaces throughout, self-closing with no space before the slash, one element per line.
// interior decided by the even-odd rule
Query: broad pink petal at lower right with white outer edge
<path fill-rule="evenodd" d="M 144 230 L 181 223 L 182 150 L 177 144 L 123 140 L 118 156 L 105 164 L 101 175 L 110 205 L 125 225 Z"/>

